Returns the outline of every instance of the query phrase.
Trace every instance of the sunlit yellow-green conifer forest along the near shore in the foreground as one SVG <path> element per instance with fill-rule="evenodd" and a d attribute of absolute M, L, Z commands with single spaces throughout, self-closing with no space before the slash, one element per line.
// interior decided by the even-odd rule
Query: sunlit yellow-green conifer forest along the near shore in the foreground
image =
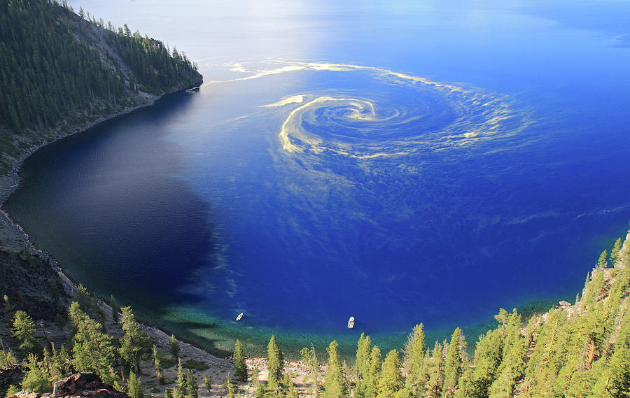
<path fill-rule="evenodd" d="M 111 303 L 111 321 L 117 326 L 106 329 L 102 308 L 79 286 L 64 315 L 55 317 L 58 327 L 69 330 L 55 348 L 50 341 L 44 343 L 41 334 L 36 336 L 31 316 L 5 295 L 2 322 L 13 338 L 9 346 L 2 344 L 0 368 L 15 362 L 25 367 L 21 384 L 8 386 L 8 392 L 48 392 L 61 377 L 92 371 L 117 390 L 140 398 L 144 388 L 137 375 L 142 374 L 141 362 L 148 362 L 151 371 L 145 367 L 144 374 L 151 373 L 154 380 L 151 392 L 165 398 L 200 397 L 200 382 L 208 392 L 218 388 L 226 397 L 630 397 L 630 238 L 623 246 L 618 239 L 610 255 L 601 254 L 574 304 L 561 301 L 527 320 L 516 310 L 501 309 L 496 327 L 479 336 L 473 357 L 459 328 L 450 339 L 428 346 L 423 325 L 416 325 L 400 352 L 386 355 L 362 334 L 353 367 L 340 360 L 336 341 L 330 343 L 325 362 L 312 346 L 304 348 L 302 366 L 307 371 L 300 388 L 274 336 L 265 369 L 247 367 L 237 341 L 232 380 L 228 375 L 225 383 L 213 387 L 208 376 L 195 374 L 195 366 L 185 370 L 174 336 L 158 353 L 131 308 L 120 311 L 113 298 Z M 174 369 L 172 380 L 165 376 L 167 367 Z M 266 382 L 260 377 L 263 370 Z"/>

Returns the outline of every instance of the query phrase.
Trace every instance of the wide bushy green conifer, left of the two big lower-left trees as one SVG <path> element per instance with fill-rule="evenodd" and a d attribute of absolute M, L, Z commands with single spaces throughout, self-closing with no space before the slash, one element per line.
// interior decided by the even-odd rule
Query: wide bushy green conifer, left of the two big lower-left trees
<path fill-rule="evenodd" d="M 99 322 L 92 320 L 79 308 L 76 301 L 70 304 L 70 322 L 76 329 L 72 338 L 73 364 L 78 371 L 93 371 L 101 376 L 111 374 L 114 348 L 111 337 L 101 332 Z"/>

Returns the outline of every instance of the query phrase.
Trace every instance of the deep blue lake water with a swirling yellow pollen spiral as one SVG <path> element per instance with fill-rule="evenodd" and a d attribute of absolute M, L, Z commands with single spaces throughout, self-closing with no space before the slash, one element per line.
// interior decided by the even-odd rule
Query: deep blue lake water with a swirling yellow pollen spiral
<path fill-rule="evenodd" d="M 630 3 L 69 4 L 204 85 L 38 151 L 6 208 L 217 353 L 400 348 L 419 322 L 472 345 L 500 307 L 573 301 L 628 228 Z"/>

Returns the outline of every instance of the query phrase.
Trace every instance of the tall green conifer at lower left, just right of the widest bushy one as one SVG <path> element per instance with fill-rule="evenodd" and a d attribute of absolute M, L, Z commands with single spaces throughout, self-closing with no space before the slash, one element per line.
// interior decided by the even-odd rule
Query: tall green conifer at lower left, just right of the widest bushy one
<path fill-rule="evenodd" d="M 123 337 L 120 339 L 120 357 L 129 367 L 136 367 L 140 371 L 140 363 L 148 360 L 151 355 L 153 342 L 140 328 L 131 307 L 122 308 Z"/>

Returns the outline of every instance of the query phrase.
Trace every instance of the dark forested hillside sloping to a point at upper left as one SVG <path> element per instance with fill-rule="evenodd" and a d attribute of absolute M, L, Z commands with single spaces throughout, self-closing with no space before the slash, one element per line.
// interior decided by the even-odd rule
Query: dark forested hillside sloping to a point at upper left
<path fill-rule="evenodd" d="M 0 0 L 0 172 L 31 145 L 200 83 L 160 41 L 56 0 Z"/>

